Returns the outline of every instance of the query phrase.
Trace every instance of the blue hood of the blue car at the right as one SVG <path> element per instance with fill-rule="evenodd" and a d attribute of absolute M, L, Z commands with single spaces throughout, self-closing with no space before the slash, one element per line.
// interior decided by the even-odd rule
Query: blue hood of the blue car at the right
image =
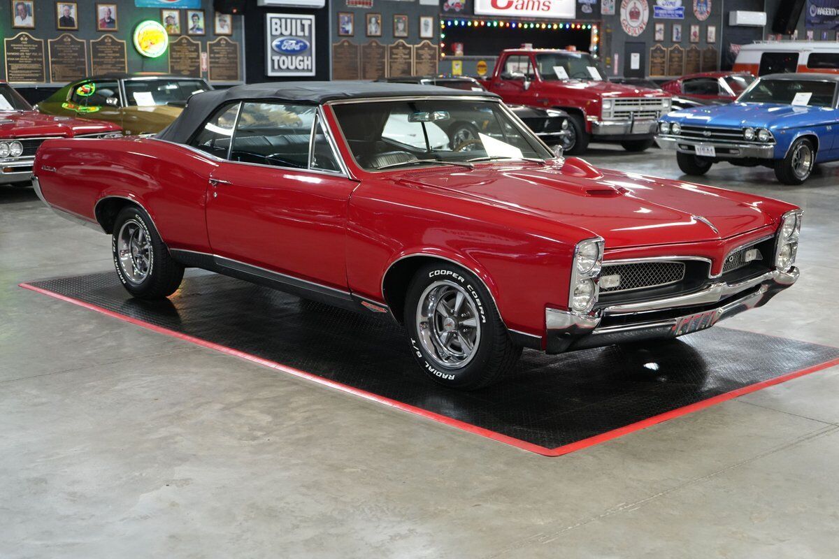
<path fill-rule="evenodd" d="M 780 103 L 731 103 L 698 106 L 671 112 L 664 120 L 708 127 L 805 126 L 834 117 L 835 111 L 821 106 L 792 106 Z M 835 117 L 834 117 L 835 120 Z"/>

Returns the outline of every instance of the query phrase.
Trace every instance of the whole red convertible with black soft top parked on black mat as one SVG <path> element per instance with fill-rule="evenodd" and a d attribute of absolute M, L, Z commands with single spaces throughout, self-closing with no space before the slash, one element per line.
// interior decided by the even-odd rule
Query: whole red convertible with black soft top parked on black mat
<path fill-rule="evenodd" d="M 480 123 L 468 149 L 452 120 Z M 522 347 L 674 338 L 799 275 L 794 205 L 558 158 L 481 91 L 208 91 L 157 137 L 45 142 L 34 173 L 46 204 L 112 236 L 134 296 L 200 267 L 390 313 L 421 368 L 464 389 Z"/>

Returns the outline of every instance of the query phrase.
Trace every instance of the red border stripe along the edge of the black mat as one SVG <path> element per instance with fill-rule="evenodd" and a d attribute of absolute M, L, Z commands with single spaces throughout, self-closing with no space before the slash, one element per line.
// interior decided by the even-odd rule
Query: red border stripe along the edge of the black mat
<path fill-rule="evenodd" d="M 91 303 L 86 303 L 85 301 L 81 301 L 80 299 L 67 297 L 66 295 L 61 295 L 60 293 L 52 292 L 48 289 L 43 289 L 41 287 L 35 287 L 34 285 L 31 285 L 29 283 L 20 283 L 18 284 L 18 286 L 23 287 L 24 289 L 29 289 L 30 291 L 48 295 L 52 298 L 60 299 L 61 301 L 65 301 L 67 303 L 73 303 L 80 307 L 96 311 L 97 313 L 105 314 L 109 317 L 118 318 L 119 320 L 122 320 L 124 322 L 135 324 L 137 326 L 152 330 L 159 334 L 165 334 L 168 336 L 172 336 L 173 338 L 183 339 L 184 341 L 190 342 L 191 344 L 201 345 L 202 347 L 206 347 L 209 349 L 215 349 L 216 351 L 221 351 L 221 353 L 227 355 L 233 355 L 234 357 L 238 357 L 243 360 L 248 360 L 259 365 L 264 365 L 274 370 L 281 370 L 284 373 L 288 373 L 289 375 L 294 375 L 306 380 L 311 380 L 320 385 L 329 386 L 336 390 L 347 392 L 348 394 L 353 394 L 355 396 L 361 396 L 362 398 L 371 401 L 376 401 L 380 404 L 384 404 L 385 406 L 394 407 L 402 411 L 408 411 L 409 413 L 413 413 L 420 417 L 426 417 L 435 422 L 444 423 L 451 427 L 462 429 L 466 432 L 471 432 L 476 435 L 481 435 L 482 437 L 491 438 L 492 440 L 498 441 L 500 443 L 507 443 L 513 445 L 514 447 L 522 448 L 532 453 L 538 453 L 544 456 L 561 456 L 562 454 L 573 453 L 583 448 L 593 447 L 597 444 L 611 441 L 614 438 L 623 437 L 623 435 L 627 435 L 628 433 L 640 431 L 641 429 L 653 426 L 657 423 L 666 422 L 675 417 L 685 416 L 689 413 L 693 413 L 694 411 L 703 410 L 706 407 L 716 406 L 717 404 L 723 401 L 732 400 L 733 398 L 737 398 L 738 396 L 743 396 L 744 394 L 749 394 L 751 392 L 762 390 L 763 388 L 767 388 L 768 386 L 774 386 L 782 382 L 786 382 L 787 380 L 792 380 L 804 375 L 810 375 L 810 373 L 815 373 L 818 370 L 824 370 L 834 365 L 839 365 L 839 357 L 837 357 L 836 359 L 829 360 L 818 365 L 812 365 L 810 367 L 807 367 L 806 369 L 796 370 L 786 375 L 780 375 L 778 377 L 775 377 L 774 379 L 763 380 L 753 385 L 743 386 L 743 388 L 738 388 L 737 390 L 726 392 L 725 394 L 712 396 L 711 398 L 708 398 L 706 400 L 697 401 L 693 404 L 676 408 L 675 410 L 665 411 L 664 413 L 661 413 L 657 416 L 648 417 L 639 422 L 630 423 L 629 425 L 626 425 L 624 427 L 612 429 L 612 431 L 602 432 L 599 435 L 595 435 L 594 437 L 588 437 L 580 441 L 576 441 L 576 443 L 565 444 L 557 448 L 546 448 L 541 447 L 538 444 L 522 441 L 515 437 L 508 437 L 507 435 L 503 435 L 499 432 L 490 431 L 489 429 L 484 429 L 483 427 L 477 427 L 476 425 L 472 425 L 471 423 L 461 422 L 460 420 L 440 415 L 439 413 L 435 413 L 434 411 L 428 411 L 421 407 L 411 406 L 401 401 L 393 400 L 385 396 L 379 396 L 378 394 L 373 394 L 373 392 L 363 391 L 358 388 L 354 388 L 352 386 L 336 382 L 334 380 L 326 379 L 322 376 L 307 373 L 305 370 L 294 369 L 294 367 L 289 367 L 288 365 L 283 365 L 275 361 L 263 359 L 262 357 L 258 357 L 257 355 L 251 355 L 243 351 L 239 351 L 238 349 L 232 349 L 227 347 L 226 345 L 214 344 L 213 342 L 209 342 L 206 339 L 195 338 L 195 336 L 190 336 L 189 334 L 183 334 L 181 332 L 176 332 L 175 330 L 163 328 L 162 326 L 156 326 L 151 323 L 143 322 L 142 320 L 138 320 L 137 318 L 132 318 L 124 314 L 115 313 L 112 310 L 108 310 L 107 308 L 102 308 Z"/>

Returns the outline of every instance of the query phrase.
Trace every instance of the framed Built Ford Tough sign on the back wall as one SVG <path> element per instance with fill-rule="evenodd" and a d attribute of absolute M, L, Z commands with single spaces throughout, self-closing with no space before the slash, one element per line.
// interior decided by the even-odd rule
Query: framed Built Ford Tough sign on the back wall
<path fill-rule="evenodd" d="M 266 13 L 266 75 L 315 75 L 315 16 Z"/>

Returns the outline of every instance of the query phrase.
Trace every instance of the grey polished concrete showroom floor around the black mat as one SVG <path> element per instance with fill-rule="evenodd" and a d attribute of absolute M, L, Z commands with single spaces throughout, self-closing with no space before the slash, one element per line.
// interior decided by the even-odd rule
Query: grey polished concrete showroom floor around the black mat
<path fill-rule="evenodd" d="M 805 209 L 800 282 L 727 327 L 839 344 L 837 179 L 703 180 Z M 839 367 L 543 458 L 16 287 L 111 267 L 0 188 L 0 557 L 839 556 Z"/>

